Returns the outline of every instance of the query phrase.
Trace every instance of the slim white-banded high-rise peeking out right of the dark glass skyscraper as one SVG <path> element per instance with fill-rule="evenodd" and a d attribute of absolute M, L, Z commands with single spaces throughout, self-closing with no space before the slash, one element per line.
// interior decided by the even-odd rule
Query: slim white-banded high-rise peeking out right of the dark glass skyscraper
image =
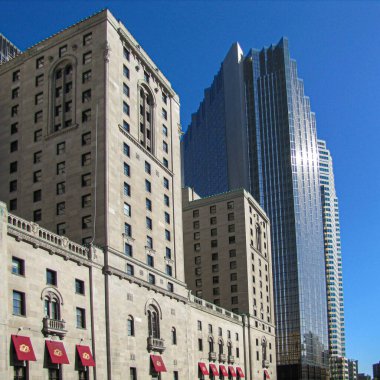
<path fill-rule="evenodd" d="M 331 379 L 347 379 L 344 329 L 342 253 L 338 198 L 335 191 L 333 160 L 326 142 L 318 140 L 319 182 L 321 186 L 325 242 L 326 288 Z"/>

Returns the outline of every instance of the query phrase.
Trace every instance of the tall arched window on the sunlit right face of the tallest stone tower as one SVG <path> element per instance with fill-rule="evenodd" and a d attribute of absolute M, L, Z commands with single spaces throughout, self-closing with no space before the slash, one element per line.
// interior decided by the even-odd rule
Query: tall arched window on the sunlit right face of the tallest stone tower
<path fill-rule="evenodd" d="M 151 91 L 146 86 L 140 87 L 140 144 L 154 152 L 154 99 Z"/>

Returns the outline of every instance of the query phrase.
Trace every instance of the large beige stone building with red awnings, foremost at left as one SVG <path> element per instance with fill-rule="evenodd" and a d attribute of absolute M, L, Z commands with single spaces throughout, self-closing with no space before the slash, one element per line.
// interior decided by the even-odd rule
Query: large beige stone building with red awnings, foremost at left
<path fill-rule="evenodd" d="M 251 319 L 185 284 L 179 99 L 124 25 L 101 11 L 0 82 L 0 378 L 275 379 Z"/>

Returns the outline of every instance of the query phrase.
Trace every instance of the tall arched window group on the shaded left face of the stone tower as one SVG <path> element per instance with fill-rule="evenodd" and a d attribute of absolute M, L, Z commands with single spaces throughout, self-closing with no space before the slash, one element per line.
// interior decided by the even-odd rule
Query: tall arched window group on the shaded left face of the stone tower
<path fill-rule="evenodd" d="M 51 131 L 75 125 L 75 73 L 71 61 L 64 59 L 51 76 Z M 85 91 L 91 98 L 91 90 Z M 83 102 L 88 100 L 82 99 Z"/>

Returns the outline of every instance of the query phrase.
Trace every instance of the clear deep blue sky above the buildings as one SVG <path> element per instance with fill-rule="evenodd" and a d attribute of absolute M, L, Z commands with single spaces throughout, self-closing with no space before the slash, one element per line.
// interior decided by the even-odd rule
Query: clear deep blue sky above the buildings
<path fill-rule="evenodd" d="M 108 7 L 181 99 L 186 129 L 227 50 L 289 38 L 331 150 L 340 202 L 347 355 L 380 360 L 380 2 L 0 0 L 0 32 L 19 48 Z"/>

